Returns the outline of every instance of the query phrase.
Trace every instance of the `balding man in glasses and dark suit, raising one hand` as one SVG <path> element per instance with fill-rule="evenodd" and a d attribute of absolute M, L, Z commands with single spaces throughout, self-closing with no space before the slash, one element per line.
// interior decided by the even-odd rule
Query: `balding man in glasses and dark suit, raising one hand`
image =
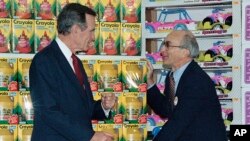
<path fill-rule="evenodd" d="M 164 95 L 148 63 L 147 102 L 156 114 L 168 118 L 154 141 L 226 141 L 214 84 L 193 60 L 199 54 L 195 37 L 190 31 L 172 31 L 163 44 L 163 63 L 171 68 Z"/>

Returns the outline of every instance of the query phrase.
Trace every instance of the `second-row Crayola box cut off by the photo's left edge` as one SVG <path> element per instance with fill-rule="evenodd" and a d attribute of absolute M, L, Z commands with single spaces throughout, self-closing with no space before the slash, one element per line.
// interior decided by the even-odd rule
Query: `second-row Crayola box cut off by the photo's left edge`
<path fill-rule="evenodd" d="M 0 19 L 0 53 L 10 52 L 11 19 Z"/>

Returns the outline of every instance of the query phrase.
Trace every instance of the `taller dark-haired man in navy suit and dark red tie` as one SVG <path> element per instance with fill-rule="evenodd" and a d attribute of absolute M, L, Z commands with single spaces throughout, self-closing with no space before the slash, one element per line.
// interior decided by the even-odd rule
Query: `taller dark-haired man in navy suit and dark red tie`
<path fill-rule="evenodd" d="M 110 141 L 94 132 L 91 119 L 106 119 L 115 98 L 94 101 L 77 51 L 88 51 L 96 13 L 80 4 L 66 5 L 57 19 L 58 37 L 37 53 L 30 67 L 34 107 L 32 141 Z"/>

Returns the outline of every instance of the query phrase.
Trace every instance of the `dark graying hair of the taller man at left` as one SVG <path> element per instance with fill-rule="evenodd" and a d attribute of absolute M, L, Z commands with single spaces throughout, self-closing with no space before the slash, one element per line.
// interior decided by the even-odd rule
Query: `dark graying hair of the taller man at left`
<path fill-rule="evenodd" d="M 57 32 L 58 34 L 67 35 L 70 33 L 71 27 L 78 24 L 81 28 L 87 28 L 86 15 L 96 16 L 96 12 L 79 3 L 67 4 L 58 15 Z"/>

